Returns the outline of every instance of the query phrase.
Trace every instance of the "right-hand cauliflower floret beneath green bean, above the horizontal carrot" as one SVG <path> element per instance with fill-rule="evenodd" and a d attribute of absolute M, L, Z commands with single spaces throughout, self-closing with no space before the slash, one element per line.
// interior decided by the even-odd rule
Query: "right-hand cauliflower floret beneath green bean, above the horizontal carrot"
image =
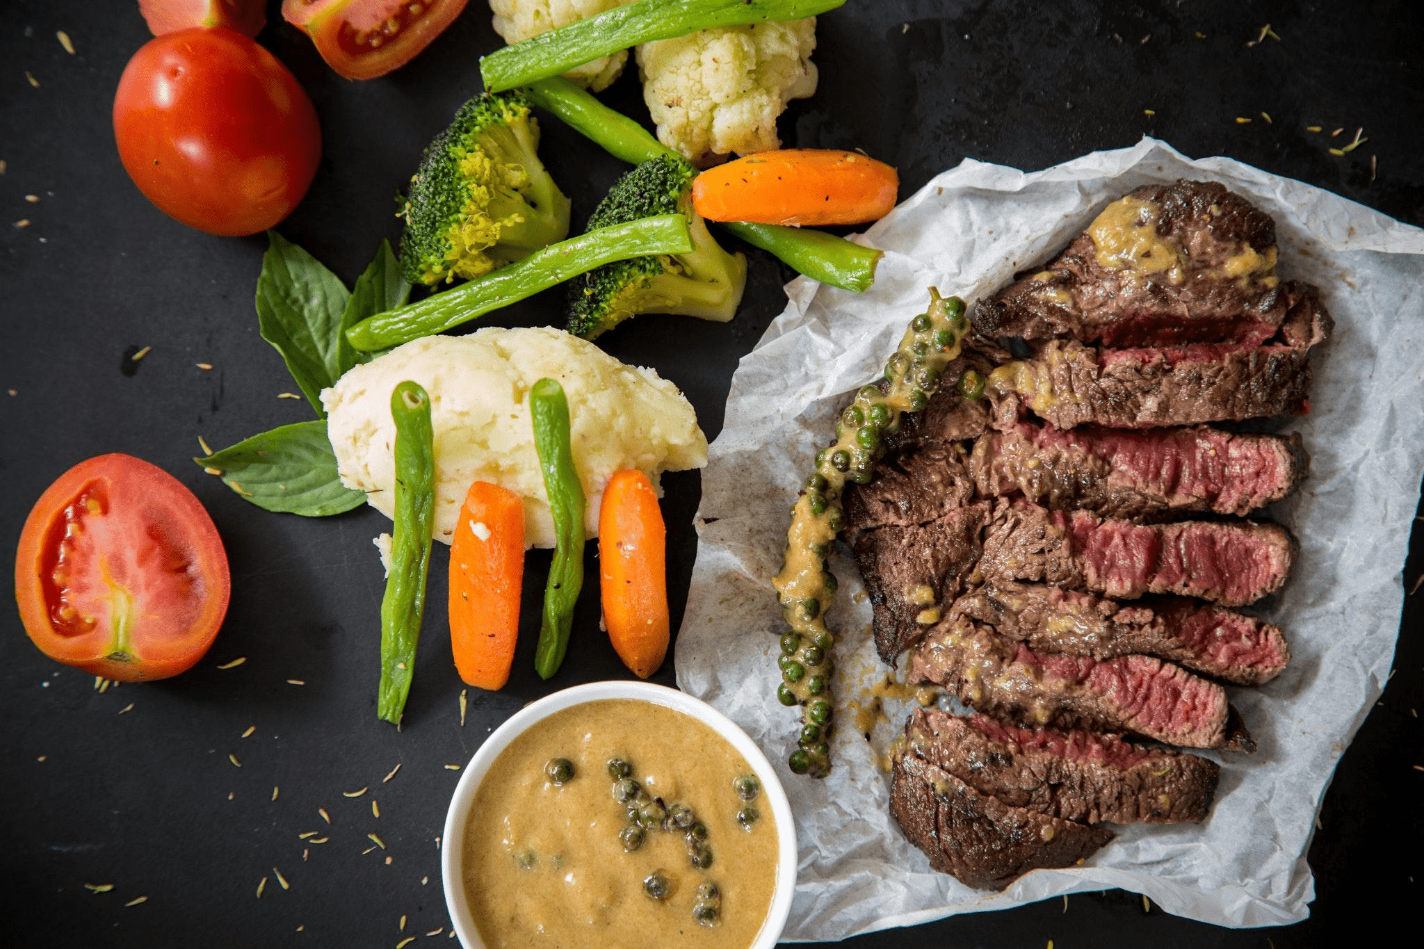
<path fill-rule="evenodd" d="M 780 148 L 776 118 L 816 91 L 816 17 L 716 27 L 638 47 L 642 97 L 658 141 L 715 165 Z"/>

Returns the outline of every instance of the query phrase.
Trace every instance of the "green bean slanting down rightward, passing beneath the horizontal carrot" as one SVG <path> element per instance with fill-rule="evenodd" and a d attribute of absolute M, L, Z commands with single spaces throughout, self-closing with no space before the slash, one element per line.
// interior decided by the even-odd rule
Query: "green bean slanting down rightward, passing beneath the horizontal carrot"
<path fill-rule="evenodd" d="M 543 80 L 524 90 L 530 101 L 564 120 L 622 161 L 641 164 L 672 155 L 648 131 L 615 112 L 587 91 L 561 78 Z M 806 276 L 860 293 L 876 280 L 883 250 L 863 248 L 823 230 L 776 225 L 725 223 L 732 235 L 760 248 Z"/>

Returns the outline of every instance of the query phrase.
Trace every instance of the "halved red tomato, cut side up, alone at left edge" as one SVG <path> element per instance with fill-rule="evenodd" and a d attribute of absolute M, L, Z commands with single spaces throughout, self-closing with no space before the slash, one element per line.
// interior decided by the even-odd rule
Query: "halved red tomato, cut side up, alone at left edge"
<path fill-rule="evenodd" d="M 50 659 L 121 682 L 198 662 L 222 625 L 228 555 L 202 504 L 132 455 L 81 461 L 26 518 L 14 561 L 24 630 Z"/>

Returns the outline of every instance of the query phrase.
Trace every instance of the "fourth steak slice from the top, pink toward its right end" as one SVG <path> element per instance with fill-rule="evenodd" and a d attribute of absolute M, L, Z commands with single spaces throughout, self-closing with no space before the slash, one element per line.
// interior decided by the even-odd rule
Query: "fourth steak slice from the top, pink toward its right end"
<path fill-rule="evenodd" d="M 1015 501 L 995 509 L 978 572 L 990 580 L 1041 580 L 1121 599 L 1185 593 L 1243 606 L 1286 582 L 1292 555 L 1290 535 L 1277 524 L 1141 525 Z"/>

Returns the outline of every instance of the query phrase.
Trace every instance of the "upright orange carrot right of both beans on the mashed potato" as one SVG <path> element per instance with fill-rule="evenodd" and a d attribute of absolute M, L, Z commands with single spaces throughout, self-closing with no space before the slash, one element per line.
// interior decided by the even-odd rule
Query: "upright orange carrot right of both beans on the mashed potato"
<path fill-rule="evenodd" d="M 666 529 L 648 475 L 619 471 L 598 511 L 604 625 L 618 657 L 646 679 L 668 654 Z"/>

